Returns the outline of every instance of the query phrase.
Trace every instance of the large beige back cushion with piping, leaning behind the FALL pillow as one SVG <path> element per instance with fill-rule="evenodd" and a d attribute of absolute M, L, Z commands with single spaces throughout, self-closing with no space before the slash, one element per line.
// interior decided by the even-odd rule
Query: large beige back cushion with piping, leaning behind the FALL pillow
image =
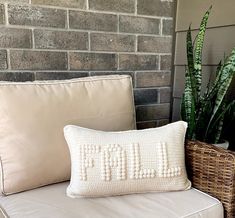
<path fill-rule="evenodd" d="M 0 83 L 2 193 L 70 178 L 67 124 L 106 131 L 135 128 L 129 76 Z"/>

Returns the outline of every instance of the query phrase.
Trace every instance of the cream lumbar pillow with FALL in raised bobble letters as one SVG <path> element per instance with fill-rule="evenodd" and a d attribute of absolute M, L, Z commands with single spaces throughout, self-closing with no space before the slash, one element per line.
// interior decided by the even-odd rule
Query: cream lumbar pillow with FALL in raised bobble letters
<path fill-rule="evenodd" d="M 187 123 L 103 132 L 68 125 L 69 197 L 187 190 L 184 138 Z"/>

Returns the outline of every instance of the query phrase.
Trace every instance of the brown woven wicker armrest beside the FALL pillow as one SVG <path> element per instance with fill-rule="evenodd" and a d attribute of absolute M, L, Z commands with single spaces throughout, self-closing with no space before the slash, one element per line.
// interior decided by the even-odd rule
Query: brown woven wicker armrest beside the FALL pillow
<path fill-rule="evenodd" d="M 234 218 L 235 152 L 199 141 L 187 141 L 186 166 L 193 187 L 220 200 L 225 217 Z"/>

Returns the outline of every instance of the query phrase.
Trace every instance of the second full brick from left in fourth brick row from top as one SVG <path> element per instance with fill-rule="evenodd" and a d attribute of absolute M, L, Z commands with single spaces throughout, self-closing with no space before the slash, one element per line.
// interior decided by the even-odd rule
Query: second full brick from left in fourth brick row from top
<path fill-rule="evenodd" d="M 105 53 L 78 53 L 69 54 L 71 70 L 116 70 L 116 54 Z"/>

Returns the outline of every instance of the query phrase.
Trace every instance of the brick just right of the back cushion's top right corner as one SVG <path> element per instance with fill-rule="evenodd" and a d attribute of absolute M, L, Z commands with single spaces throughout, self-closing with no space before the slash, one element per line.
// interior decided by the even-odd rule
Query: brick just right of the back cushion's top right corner
<path fill-rule="evenodd" d="M 136 72 L 136 87 L 159 87 L 170 85 L 170 72 Z"/>

